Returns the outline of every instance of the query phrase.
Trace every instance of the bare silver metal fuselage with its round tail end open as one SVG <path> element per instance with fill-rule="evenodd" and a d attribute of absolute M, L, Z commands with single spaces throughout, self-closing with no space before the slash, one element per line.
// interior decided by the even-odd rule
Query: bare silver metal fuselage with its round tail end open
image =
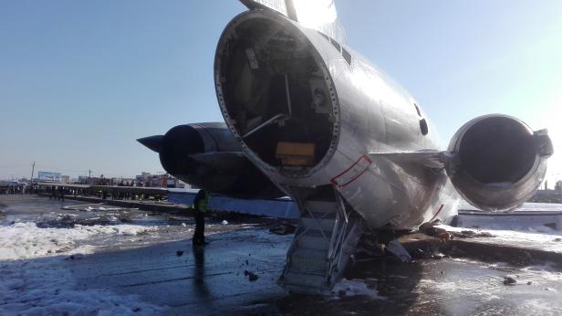
<path fill-rule="evenodd" d="M 255 31 L 264 26 L 271 29 Z M 283 52 L 279 51 L 283 48 L 267 46 L 271 37 L 279 37 L 276 33 L 279 29 L 286 35 L 285 40 L 297 48 L 287 48 Z M 233 48 L 236 45 L 241 47 Z M 236 49 L 245 52 L 252 49 L 251 58 L 255 60 L 245 62 L 243 68 L 233 74 L 224 63 L 233 58 Z M 259 137 L 260 131 L 248 136 L 249 127 L 241 126 L 237 117 L 255 98 L 241 98 L 234 92 L 229 95 L 227 86 L 236 84 L 236 90 L 250 90 L 240 86 L 242 81 L 255 86 L 260 78 L 253 78 L 258 77 L 253 71 L 280 59 L 267 60 L 267 49 L 285 54 L 288 78 L 307 80 L 312 86 L 310 89 L 320 90 L 326 96 L 331 140 L 326 153 L 314 165 L 287 168 L 265 162 L 265 154 L 260 153 L 259 146 L 247 141 L 248 137 Z M 298 49 L 306 50 L 310 54 L 308 60 L 315 63 L 309 78 L 299 72 L 302 67 L 292 70 L 289 65 L 291 58 L 302 57 Z M 278 68 L 270 69 L 269 73 L 282 75 Z M 373 227 L 411 228 L 432 218 L 447 219 L 456 212 L 460 197 L 444 170 L 369 157 L 368 153 L 437 151 L 437 133 L 406 90 L 351 48 L 285 16 L 251 10 L 236 16 L 224 30 L 215 58 L 215 83 L 224 121 L 242 143 L 245 154 L 288 195 L 298 195 L 304 188 L 333 185 L 353 210 Z M 297 107 L 311 106 L 306 102 L 291 102 L 291 99 L 294 98 L 287 97 L 287 106 L 293 112 Z M 291 109 L 287 111 L 282 114 L 289 116 Z M 279 115 L 269 112 L 270 117 L 276 114 Z M 266 115 L 259 118 L 261 121 L 269 119 Z M 314 140 L 314 136 L 311 138 Z"/>

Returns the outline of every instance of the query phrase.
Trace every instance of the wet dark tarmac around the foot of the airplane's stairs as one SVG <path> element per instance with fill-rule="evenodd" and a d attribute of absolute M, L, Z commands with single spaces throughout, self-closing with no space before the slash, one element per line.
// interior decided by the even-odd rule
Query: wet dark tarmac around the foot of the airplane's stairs
<path fill-rule="evenodd" d="M 84 208 L 74 202 L 62 204 L 44 197 L 14 196 L 0 195 L 5 214 L 4 219 L 0 218 L 2 226 L 34 222 L 37 227 L 47 227 L 44 229 L 64 229 L 74 223 L 150 226 L 151 230 L 88 237 L 74 247 L 94 247 L 90 253 L 65 250 L 56 256 L 4 260 L 0 261 L 0 269 L 12 273 L 14 262 L 27 267 L 57 265 L 68 271 L 72 290 L 103 290 L 120 297 L 135 295 L 144 303 L 160 307 L 162 314 L 562 314 L 562 271 L 547 262 L 517 266 L 471 258 L 437 257 L 413 263 L 389 257 L 366 258 L 349 264 L 345 279 L 331 293 L 287 294 L 276 279 L 293 235 L 270 233 L 270 223 L 229 221 L 224 225 L 216 219 L 207 226 L 211 243 L 193 248 L 193 222 L 187 216 L 111 210 L 107 205 Z M 72 207 L 62 209 L 65 206 Z M 22 273 L 32 272 L 26 269 Z M 250 278 L 252 275 L 255 277 Z M 515 283 L 505 284 L 505 278 Z M 5 310 L 8 314 L 22 311 L 26 304 L 37 304 L 2 300 L 0 295 L 0 311 L 2 306 L 9 306 Z M 143 309 L 135 307 L 131 311 L 148 311 Z"/>

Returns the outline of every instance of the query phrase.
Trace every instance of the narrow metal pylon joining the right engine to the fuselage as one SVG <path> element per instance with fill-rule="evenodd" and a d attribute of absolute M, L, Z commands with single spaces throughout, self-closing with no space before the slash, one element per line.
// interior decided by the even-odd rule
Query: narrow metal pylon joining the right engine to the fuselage
<path fill-rule="evenodd" d="M 385 158 L 395 163 L 418 163 L 433 169 L 442 169 L 445 162 L 453 156 L 451 152 L 420 151 L 400 153 L 369 153 L 369 157 Z"/>

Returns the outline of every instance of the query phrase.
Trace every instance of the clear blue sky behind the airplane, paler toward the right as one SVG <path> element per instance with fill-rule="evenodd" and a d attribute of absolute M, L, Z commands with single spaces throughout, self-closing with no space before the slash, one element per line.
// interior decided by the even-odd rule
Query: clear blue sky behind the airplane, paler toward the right
<path fill-rule="evenodd" d="M 336 4 L 349 46 L 411 91 L 443 145 L 490 112 L 546 127 L 562 145 L 562 1 Z M 28 177 L 34 160 L 72 176 L 161 171 L 135 140 L 222 120 L 214 48 L 243 10 L 236 0 L 0 1 L 0 178 Z"/>

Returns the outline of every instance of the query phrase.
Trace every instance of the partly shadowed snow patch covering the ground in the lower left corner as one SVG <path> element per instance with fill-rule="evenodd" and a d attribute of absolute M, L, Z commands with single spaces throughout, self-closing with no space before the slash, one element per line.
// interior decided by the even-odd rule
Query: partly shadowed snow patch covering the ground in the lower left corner
<path fill-rule="evenodd" d="M 131 236 L 155 230 L 146 226 L 38 228 L 35 223 L 0 226 L 0 314 L 154 315 L 161 307 L 134 295 L 77 289 L 64 258 L 90 253 L 88 238 Z M 77 241 L 81 241 L 77 247 Z M 60 255 L 64 254 L 64 258 Z"/>

